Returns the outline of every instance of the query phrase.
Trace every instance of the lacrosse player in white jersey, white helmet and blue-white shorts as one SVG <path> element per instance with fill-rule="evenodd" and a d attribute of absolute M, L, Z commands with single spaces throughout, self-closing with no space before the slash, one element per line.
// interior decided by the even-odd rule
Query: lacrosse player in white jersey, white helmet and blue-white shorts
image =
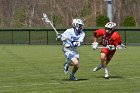
<path fill-rule="evenodd" d="M 73 19 L 72 28 L 67 29 L 64 33 L 57 35 L 57 40 L 63 41 L 63 52 L 66 57 L 64 63 L 64 73 L 68 73 L 69 66 L 73 66 L 70 73 L 70 80 L 78 80 L 74 74 L 79 68 L 79 53 L 76 48 L 79 47 L 85 37 L 83 32 L 84 23 L 81 19 Z"/>

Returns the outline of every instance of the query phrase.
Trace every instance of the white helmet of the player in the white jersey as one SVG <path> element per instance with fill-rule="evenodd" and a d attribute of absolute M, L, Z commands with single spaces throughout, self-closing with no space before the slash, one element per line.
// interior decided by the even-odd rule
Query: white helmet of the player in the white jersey
<path fill-rule="evenodd" d="M 73 19 L 72 26 L 73 26 L 74 29 L 76 29 L 76 31 L 78 33 L 81 33 L 81 31 L 83 30 L 83 26 L 84 26 L 83 20 Z"/>

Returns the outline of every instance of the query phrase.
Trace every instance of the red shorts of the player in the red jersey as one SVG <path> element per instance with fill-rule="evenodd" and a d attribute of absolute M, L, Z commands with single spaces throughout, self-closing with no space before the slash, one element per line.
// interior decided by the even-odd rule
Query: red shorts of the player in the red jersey
<path fill-rule="evenodd" d="M 106 48 L 102 48 L 101 53 L 105 53 L 106 54 L 106 58 L 108 61 L 110 61 L 113 57 L 113 55 L 115 54 L 116 50 L 107 50 Z"/>

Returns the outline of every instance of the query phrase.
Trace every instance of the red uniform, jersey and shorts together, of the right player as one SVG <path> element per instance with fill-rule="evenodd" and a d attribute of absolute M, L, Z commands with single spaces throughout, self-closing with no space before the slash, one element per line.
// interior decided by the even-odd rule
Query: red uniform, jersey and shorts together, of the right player
<path fill-rule="evenodd" d="M 114 45 L 114 46 L 118 46 L 119 44 L 121 44 L 121 39 L 119 34 L 116 31 L 113 31 L 111 34 L 106 34 L 105 29 L 99 29 L 96 30 L 94 33 L 94 37 L 98 38 L 98 37 L 102 37 L 100 44 L 103 46 L 106 45 Z M 101 53 L 105 53 L 107 60 L 110 61 L 115 53 L 115 50 L 107 50 L 107 48 L 102 48 L 101 49 Z"/>

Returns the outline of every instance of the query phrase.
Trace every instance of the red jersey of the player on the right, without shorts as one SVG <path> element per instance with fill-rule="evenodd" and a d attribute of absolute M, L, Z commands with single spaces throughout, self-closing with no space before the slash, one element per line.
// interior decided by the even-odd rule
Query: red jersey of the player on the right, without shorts
<path fill-rule="evenodd" d="M 96 38 L 102 37 L 100 44 L 103 46 L 106 45 L 118 46 L 121 43 L 120 36 L 116 31 L 112 32 L 111 34 L 106 34 L 105 29 L 99 29 L 95 31 L 94 37 Z"/>

